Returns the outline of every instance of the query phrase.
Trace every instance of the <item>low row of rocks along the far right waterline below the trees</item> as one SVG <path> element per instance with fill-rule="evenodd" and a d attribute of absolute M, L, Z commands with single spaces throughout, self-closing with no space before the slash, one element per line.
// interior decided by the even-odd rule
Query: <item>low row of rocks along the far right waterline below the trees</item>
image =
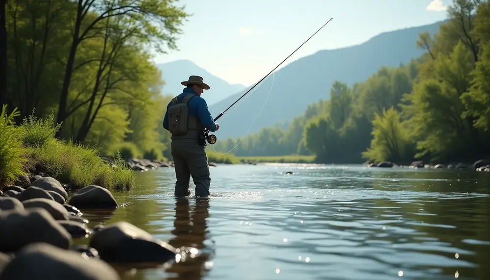
<path fill-rule="evenodd" d="M 419 169 L 419 168 L 433 168 L 433 169 L 470 169 L 476 171 L 484 171 L 490 172 L 490 159 L 480 159 L 475 161 L 472 164 L 455 162 L 450 164 L 424 164 L 423 161 L 414 161 L 410 165 L 397 165 L 390 161 L 383 161 L 378 163 L 367 163 L 368 167 L 381 167 L 381 168 L 392 168 L 392 167 L 401 167 L 401 168 L 411 168 L 411 169 Z"/>

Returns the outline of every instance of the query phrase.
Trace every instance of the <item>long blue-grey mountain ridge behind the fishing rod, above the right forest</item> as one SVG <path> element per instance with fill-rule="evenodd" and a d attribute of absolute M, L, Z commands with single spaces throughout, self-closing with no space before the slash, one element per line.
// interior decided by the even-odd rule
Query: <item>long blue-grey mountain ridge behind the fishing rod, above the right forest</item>
<path fill-rule="evenodd" d="M 318 51 L 291 62 L 259 84 L 252 95 L 247 94 L 237 103 L 236 109 L 228 110 L 217 121 L 221 128 L 216 136 L 224 139 L 245 135 L 269 92 L 269 99 L 249 133 L 291 121 L 303 114 L 308 104 L 329 99 L 330 86 L 336 79 L 352 86 L 366 80 L 382 66 L 397 67 L 400 63 L 409 63 L 423 53 L 416 46 L 418 34 L 439 32 L 443 22 L 384 32 L 360 45 Z M 210 106 L 213 117 L 244 93 L 245 90 Z M 245 102 L 238 106 L 243 100 Z"/>

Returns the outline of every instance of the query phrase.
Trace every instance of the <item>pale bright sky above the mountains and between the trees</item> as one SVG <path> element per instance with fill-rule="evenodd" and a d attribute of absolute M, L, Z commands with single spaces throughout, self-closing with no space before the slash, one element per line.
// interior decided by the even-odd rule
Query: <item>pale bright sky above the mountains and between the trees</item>
<path fill-rule="evenodd" d="M 154 62 L 189 59 L 230 83 L 248 86 L 330 18 L 281 67 L 319 50 L 361 44 L 381 32 L 443 20 L 444 6 L 450 4 L 452 0 L 179 0 L 176 5 L 186 5 L 194 15 L 184 23 L 179 51 L 156 55 Z"/>

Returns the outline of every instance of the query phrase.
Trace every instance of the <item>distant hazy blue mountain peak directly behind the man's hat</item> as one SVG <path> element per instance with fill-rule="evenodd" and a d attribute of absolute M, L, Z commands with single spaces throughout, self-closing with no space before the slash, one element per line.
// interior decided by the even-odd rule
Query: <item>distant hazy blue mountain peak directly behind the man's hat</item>
<path fill-rule="evenodd" d="M 204 78 L 204 82 L 209 84 L 211 89 L 204 91 L 203 97 L 209 105 L 216 104 L 223 99 L 236 94 L 245 88 L 242 84 L 229 84 L 227 81 L 213 76 L 205 69 L 197 66 L 189 60 L 175 60 L 168 63 L 156 65 L 162 72 L 162 79 L 165 85 L 162 88 L 163 95 L 175 96 L 182 92 L 183 86 L 181 81 L 187 80 L 191 75 L 197 75 Z"/>

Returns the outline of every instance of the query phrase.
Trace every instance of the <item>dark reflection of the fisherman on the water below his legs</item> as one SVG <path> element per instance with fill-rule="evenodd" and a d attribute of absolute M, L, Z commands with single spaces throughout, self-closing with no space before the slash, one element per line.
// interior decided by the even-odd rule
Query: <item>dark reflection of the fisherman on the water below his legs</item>
<path fill-rule="evenodd" d="M 185 261 L 180 261 L 177 256 L 175 263 L 166 269 L 167 272 L 175 274 L 172 279 L 198 280 L 204 275 L 209 265 L 207 261 L 210 254 L 206 251 L 204 241 L 208 232 L 206 219 L 209 217 L 209 199 L 196 198 L 196 206 L 190 206 L 188 198 L 175 199 L 175 219 L 171 233 L 175 235 L 169 244 L 175 248 L 185 250 L 185 247 L 194 247 L 198 250 L 195 254 L 193 250 L 181 252 Z M 204 250 L 203 250 L 204 249 Z"/>

